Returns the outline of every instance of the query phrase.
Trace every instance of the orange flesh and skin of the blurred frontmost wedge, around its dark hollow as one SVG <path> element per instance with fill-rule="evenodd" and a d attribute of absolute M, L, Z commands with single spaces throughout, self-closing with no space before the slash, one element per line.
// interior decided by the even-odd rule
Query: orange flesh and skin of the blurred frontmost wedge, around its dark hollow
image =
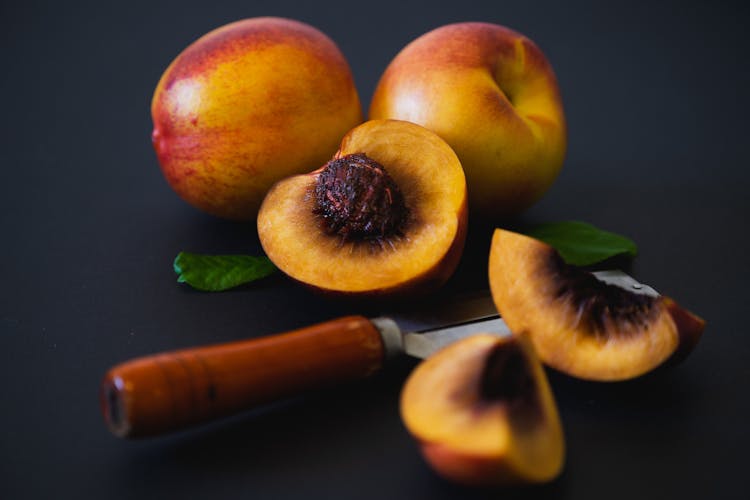
<path fill-rule="evenodd" d="M 517 342 L 532 370 L 539 419 L 523 429 L 503 400 L 485 401 L 480 377 L 489 353 Z M 557 408 L 541 364 L 523 338 L 479 334 L 456 342 L 421 363 L 401 394 L 401 416 L 425 459 L 442 476 L 466 484 L 544 482 L 564 462 Z"/>

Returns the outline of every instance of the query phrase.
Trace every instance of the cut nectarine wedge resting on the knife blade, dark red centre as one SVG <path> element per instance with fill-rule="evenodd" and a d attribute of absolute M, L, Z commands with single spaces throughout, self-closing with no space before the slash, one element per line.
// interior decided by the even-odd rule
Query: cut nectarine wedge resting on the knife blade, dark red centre
<path fill-rule="evenodd" d="M 704 327 L 668 297 L 603 283 L 551 246 L 503 229 L 493 235 L 489 280 L 510 330 L 528 334 L 544 363 L 578 378 L 642 375 L 689 351 Z"/>

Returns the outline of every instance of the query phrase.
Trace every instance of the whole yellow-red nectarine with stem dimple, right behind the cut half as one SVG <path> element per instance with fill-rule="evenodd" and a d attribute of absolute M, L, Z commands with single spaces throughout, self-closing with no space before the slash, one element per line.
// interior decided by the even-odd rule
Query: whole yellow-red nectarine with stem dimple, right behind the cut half
<path fill-rule="evenodd" d="M 566 151 L 557 79 L 542 51 L 503 26 L 459 23 L 407 45 L 383 74 L 370 119 L 407 120 L 461 160 L 472 214 L 516 214 L 552 185 Z"/>

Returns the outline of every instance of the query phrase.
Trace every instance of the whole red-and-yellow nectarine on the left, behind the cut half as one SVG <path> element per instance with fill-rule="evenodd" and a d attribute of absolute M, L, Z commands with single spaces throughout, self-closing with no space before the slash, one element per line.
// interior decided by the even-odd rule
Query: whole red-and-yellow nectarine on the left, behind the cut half
<path fill-rule="evenodd" d="M 349 66 L 317 29 L 281 18 L 218 28 L 167 68 L 151 103 L 164 176 L 188 203 L 252 219 L 276 181 L 325 163 L 362 121 Z"/>

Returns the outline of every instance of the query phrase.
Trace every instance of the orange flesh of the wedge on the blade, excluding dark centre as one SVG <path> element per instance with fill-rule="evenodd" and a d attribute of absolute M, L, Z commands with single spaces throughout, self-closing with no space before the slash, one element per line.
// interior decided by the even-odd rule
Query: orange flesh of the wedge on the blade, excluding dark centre
<path fill-rule="evenodd" d="M 529 335 L 544 363 L 578 378 L 625 380 L 652 370 L 678 349 L 684 333 L 678 331 L 670 313 L 674 302 L 667 297 L 657 299 L 655 319 L 638 331 L 616 321 L 608 322 L 613 341 L 584 331 L 577 324 L 576 306 L 557 298 L 559 283 L 548 267 L 553 252 L 540 241 L 497 229 L 489 262 L 498 311 L 511 331 Z M 702 320 L 690 316 L 702 331 Z"/>

